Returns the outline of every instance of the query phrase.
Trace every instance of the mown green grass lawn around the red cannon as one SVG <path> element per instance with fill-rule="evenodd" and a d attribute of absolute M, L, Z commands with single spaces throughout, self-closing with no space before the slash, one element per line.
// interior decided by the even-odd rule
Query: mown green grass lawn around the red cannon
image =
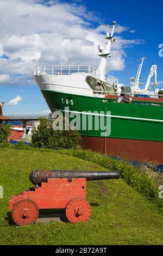
<path fill-rule="evenodd" d="M 0 149 L 1 245 L 162 245 L 163 216 L 145 196 L 122 179 L 87 182 L 92 215 L 87 223 L 36 223 L 17 227 L 9 198 L 31 187 L 32 169 L 106 170 L 71 156 L 36 150 Z"/>

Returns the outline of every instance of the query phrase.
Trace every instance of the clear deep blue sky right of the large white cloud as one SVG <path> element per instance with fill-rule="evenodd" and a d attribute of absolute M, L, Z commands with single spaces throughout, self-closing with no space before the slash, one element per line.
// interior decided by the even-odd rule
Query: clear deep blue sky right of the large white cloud
<path fill-rule="evenodd" d="M 139 59 L 146 56 L 141 78 L 147 81 L 149 69 L 152 64 L 158 65 L 158 81 L 163 81 L 163 57 L 158 55 L 158 45 L 163 43 L 163 1 L 147 0 L 117 0 L 117 1 L 85 1 L 87 7 L 98 11 L 105 21 L 116 20 L 121 26 L 128 26 L 136 33 L 122 33 L 125 39 L 143 39 L 144 44 L 135 45 L 126 49 L 126 69 L 114 72 L 126 84 L 130 82 L 130 76 L 136 76 Z M 100 4 L 99 4 L 100 3 Z M 111 14 L 111 15 L 110 15 Z M 163 88 L 163 85 L 162 87 Z"/>

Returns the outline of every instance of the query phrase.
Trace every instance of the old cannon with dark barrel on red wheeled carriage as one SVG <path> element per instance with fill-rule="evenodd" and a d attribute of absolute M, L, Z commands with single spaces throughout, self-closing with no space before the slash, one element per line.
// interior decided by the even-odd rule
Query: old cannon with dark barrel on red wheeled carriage
<path fill-rule="evenodd" d="M 119 172 L 34 170 L 29 179 L 35 187 L 11 196 L 12 219 L 17 225 L 28 225 L 36 222 L 39 209 L 65 209 L 69 222 L 86 222 L 91 216 L 86 180 L 118 178 Z"/>

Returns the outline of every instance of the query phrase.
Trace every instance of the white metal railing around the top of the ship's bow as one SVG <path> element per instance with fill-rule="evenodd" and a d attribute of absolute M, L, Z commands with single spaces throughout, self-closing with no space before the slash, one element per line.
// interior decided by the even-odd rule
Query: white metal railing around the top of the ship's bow
<path fill-rule="evenodd" d="M 38 75 L 72 75 L 86 73 L 99 78 L 100 71 L 90 65 L 41 65 L 34 68 L 34 76 Z"/>

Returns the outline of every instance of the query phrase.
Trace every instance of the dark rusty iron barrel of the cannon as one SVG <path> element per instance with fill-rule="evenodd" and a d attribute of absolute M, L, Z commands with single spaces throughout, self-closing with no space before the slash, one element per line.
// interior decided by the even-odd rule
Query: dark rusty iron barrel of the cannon
<path fill-rule="evenodd" d="M 119 179 L 120 172 L 93 172 L 77 170 L 33 170 L 29 179 L 34 185 L 47 182 L 47 179 L 71 179 L 85 178 L 86 180 L 109 180 Z"/>

